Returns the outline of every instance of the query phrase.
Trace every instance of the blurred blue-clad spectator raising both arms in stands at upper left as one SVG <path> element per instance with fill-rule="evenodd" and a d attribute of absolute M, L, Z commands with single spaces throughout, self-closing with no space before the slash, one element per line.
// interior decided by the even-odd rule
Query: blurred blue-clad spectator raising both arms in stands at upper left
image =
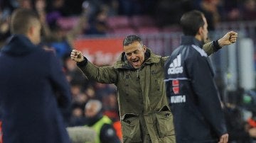
<path fill-rule="evenodd" d="M 83 9 L 77 25 L 73 26 L 72 29 L 64 29 L 58 23 L 58 19 L 63 16 L 60 9 L 63 9 L 64 1 L 53 1 L 52 13 L 46 13 L 46 2 L 46 0 L 35 1 L 35 8 L 40 16 L 43 29 L 43 42 L 44 45 L 55 50 L 60 59 L 64 59 L 72 50 L 73 40 L 82 34 L 80 31 L 87 23 L 87 8 Z"/>

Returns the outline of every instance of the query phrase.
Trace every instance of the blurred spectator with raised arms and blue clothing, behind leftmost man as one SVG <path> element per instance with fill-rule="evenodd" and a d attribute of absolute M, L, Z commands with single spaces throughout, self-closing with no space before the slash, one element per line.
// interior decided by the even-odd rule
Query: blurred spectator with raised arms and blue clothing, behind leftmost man
<path fill-rule="evenodd" d="M 82 34 L 82 30 L 87 25 L 88 6 L 82 7 L 80 16 L 66 18 L 69 13 L 65 13 L 65 1 L 63 0 L 36 0 L 35 8 L 43 25 L 43 45 L 55 50 L 60 59 L 70 54 L 73 40 Z M 70 22 L 66 24 L 66 22 Z"/>

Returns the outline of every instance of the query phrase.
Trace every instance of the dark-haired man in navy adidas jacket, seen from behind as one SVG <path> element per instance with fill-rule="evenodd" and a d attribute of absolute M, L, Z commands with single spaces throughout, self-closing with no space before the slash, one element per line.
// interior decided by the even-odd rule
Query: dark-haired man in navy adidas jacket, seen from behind
<path fill-rule="evenodd" d="M 181 46 L 165 64 L 176 142 L 228 142 L 213 69 L 202 49 L 208 35 L 206 18 L 200 11 L 191 11 L 183 15 L 181 26 L 185 34 Z M 236 38 L 232 40 L 235 42 Z M 218 41 L 214 44 L 218 45 Z"/>

